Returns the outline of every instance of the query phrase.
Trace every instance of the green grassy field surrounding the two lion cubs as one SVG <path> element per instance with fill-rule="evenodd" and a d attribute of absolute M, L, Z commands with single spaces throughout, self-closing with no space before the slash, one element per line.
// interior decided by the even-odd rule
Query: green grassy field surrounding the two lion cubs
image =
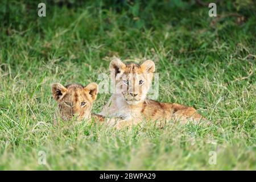
<path fill-rule="evenodd" d="M 39 2 L 0 2 L 0 169 L 255 170 L 252 1 L 217 3 L 217 18 L 195 1 L 114 2 L 48 1 L 46 17 Z M 99 82 L 112 56 L 154 60 L 158 101 L 194 106 L 213 125 L 53 126 L 51 84 Z"/>

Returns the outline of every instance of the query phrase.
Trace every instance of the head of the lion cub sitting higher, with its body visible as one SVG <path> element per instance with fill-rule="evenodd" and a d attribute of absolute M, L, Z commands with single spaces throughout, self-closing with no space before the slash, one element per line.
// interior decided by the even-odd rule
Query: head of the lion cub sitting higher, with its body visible
<path fill-rule="evenodd" d="M 143 102 L 150 89 L 155 64 L 151 60 L 142 64 L 124 64 L 120 59 L 113 59 L 109 65 L 111 77 L 115 80 L 115 93 L 121 94 L 130 105 Z"/>

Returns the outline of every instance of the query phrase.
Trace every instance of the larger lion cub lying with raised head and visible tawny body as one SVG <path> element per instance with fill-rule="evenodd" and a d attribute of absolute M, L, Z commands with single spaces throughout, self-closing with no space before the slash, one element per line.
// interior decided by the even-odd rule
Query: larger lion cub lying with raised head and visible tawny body
<path fill-rule="evenodd" d="M 189 119 L 200 121 L 201 115 L 193 107 L 146 99 L 155 72 L 153 61 L 147 60 L 141 65 L 124 64 L 115 58 L 109 67 L 114 72 L 115 93 L 100 114 L 125 119 L 118 127 L 131 126 L 144 119 L 160 122 L 171 119 L 181 123 L 187 123 Z"/>

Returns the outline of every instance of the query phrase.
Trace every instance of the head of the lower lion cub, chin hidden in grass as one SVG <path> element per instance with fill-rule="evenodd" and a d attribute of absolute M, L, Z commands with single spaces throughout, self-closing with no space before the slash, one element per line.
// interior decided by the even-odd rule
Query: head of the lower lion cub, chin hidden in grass
<path fill-rule="evenodd" d="M 98 85 L 90 83 L 87 86 L 60 83 L 52 84 L 52 97 L 58 103 L 62 119 L 69 120 L 75 117 L 78 121 L 90 118 L 93 101 L 98 94 Z"/>

